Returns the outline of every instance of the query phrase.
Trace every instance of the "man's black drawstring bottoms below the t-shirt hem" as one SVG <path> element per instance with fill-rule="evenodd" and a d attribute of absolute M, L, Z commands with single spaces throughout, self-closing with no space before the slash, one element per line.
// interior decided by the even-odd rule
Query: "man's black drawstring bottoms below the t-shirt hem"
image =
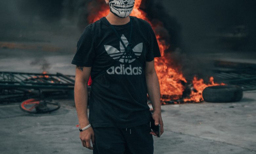
<path fill-rule="evenodd" d="M 154 140 L 150 122 L 131 127 L 96 127 L 94 154 L 153 154 Z"/>

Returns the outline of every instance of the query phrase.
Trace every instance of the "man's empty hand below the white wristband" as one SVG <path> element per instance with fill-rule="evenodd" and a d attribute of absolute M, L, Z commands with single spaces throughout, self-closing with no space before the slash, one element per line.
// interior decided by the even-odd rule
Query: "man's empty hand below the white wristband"
<path fill-rule="evenodd" d="M 82 145 L 90 150 L 93 150 L 93 147 L 91 146 L 91 140 L 93 145 L 95 144 L 95 137 L 94 137 L 94 131 L 92 127 L 89 127 L 88 129 L 80 132 L 80 140 L 82 142 Z"/>

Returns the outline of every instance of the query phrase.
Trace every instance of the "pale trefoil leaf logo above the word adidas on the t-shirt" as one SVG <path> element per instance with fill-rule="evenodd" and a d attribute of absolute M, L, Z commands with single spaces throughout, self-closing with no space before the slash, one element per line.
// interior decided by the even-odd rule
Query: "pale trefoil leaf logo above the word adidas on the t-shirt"
<path fill-rule="evenodd" d="M 127 38 L 122 35 L 121 36 L 121 39 L 124 43 L 124 45 L 127 47 L 129 42 L 127 40 Z M 124 46 L 122 45 L 121 41 L 120 41 L 120 51 L 115 48 L 115 47 L 112 47 L 112 46 L 108 46 L 108 45 L 104 45 L 105 47 L 105 50 L 107 51 L 107 53 L 110 55 L 110 57 L 112 57 L 113 59 L 118 59 L 120 58 L 120 56 L 123 54 L 123 52 L 125 51 L 125 48 Z M 142 49 L 143 49 L 143 43 L 139 43 L 138 45 L 136 45 L 134 48 L 133 48 L 133 52 L 134 54 L 136 55 L 137 58 L 139 58 L 139 56 L 141 55 L 142 53 Z M 121 63 L 124 63 L 124 58 L 125 58 L 125 53 L 124 55 L 119 59 L 119 62 Z M 131 58 L 131 56 L 130 56 Z M 125 59 L 125 62 L 127 62 L 128 59 Z M 128 63 L 132 63 L 134 62 L 135 59 L 132 59 L 132 60 L 129 60 Z"/>

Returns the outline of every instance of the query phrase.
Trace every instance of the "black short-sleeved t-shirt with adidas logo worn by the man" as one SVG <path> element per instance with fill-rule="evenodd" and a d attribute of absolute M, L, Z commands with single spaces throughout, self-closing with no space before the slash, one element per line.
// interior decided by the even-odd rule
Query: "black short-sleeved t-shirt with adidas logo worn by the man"
<path fill-rule="evenodd" d="M 161 55 L 150 24 L 137 17 L 130 19 L 131 42 L 130 22 L 113 25 L 125 46 L 132 44 L 135 57 L 129 62 L 105 17 L 87 26 L 77 43 L 72 64 L 92 67 L 89 122 L 93 127 L 128 128 L 150 121 L 144 68 Z"/>

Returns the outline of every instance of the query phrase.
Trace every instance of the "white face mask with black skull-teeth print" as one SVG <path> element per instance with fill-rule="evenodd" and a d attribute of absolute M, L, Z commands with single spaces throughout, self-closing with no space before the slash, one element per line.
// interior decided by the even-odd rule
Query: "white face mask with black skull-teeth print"
<path fill-rule="evenodd" d="M 120 18 L 128 17 L 133 10 L 135 0 L 109 0 L 110 11 Z"/>

